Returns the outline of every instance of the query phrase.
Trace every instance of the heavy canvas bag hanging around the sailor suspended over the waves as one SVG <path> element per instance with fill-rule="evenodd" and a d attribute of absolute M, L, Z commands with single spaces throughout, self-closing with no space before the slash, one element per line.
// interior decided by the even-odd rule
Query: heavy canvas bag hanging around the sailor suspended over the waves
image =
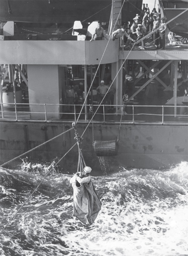
<path fill-rule="evenodd" d="M 73 186 L 73 216 L 78 218 L 82 223 L 91 225 L 99 211 L 101 210 L 101 202 L 96 194 L 92 181 L 84 183 L 80 187 Z"/>

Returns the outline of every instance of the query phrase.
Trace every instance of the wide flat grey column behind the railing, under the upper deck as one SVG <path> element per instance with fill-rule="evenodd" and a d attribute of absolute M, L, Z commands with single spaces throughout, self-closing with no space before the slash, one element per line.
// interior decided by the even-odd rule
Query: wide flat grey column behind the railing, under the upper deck
<path fill-rule="evenodd" d="M 60 98 L 58 65 L 28 65 L 29 107 L 31 119 L 59 119 Z"/>

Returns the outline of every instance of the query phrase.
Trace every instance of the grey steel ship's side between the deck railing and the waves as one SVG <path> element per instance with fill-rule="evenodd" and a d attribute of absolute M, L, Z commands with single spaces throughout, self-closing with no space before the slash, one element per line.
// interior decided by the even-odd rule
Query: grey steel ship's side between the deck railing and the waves
<path fill-rule="evenodd" d="M 11 123 L 1 122 L 1 151 L 0 161 L 3 164 L 16 156 L 35 148 L 39 144 L 60 135 L 63 131 L 72 128 L 70 123 Z M 81 135 L 86 124 L 77 125 L 76 130 Z M 94 125 L 94 140 L 108 141 L 117 139 L 119 125 Z M 15 140 L 16 133 L 16 140 Z M 102 174 L 102 171 L 113 172 L 118 167 L 166 169 L 181 161 L 188 161 L 188 147 L 185 135 L 188 126 L 181 125 L 121 125 L 118 141 L 118 154 L 112 157 L 97 157 L 92 146 L 92 126 L 85 131 L 81 144 L 86 164 L 92 166 L 93 174 Z M 13 168 L 23 162 L 57 163 L 64 155 L 65 158 L 58 164 L 58 170 L 75 173 L 78 163 L 77 145 L 67 154 L 75 144 L 74 131 L 54 139 L 35 149 L 16 161 L 4 166 Z"/>

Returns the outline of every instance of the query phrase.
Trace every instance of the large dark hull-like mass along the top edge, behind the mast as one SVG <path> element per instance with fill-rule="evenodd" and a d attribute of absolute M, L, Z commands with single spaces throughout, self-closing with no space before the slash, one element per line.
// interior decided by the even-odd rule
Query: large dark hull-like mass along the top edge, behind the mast
<path fill-rule="evenodd" d="M 141 7 L 140 0 L 125 1 L 122 22 L 132 20 Z M 75 20 L 108 26 L 111 8 L 112 0 L 0 0 L 0 20 L 14 21 L 19 33 L 72 33 Z"/>

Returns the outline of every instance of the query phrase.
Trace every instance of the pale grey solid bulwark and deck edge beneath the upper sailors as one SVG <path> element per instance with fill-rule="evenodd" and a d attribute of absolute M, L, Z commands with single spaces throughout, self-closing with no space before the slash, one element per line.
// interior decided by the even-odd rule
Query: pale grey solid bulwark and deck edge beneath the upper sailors
<path fill-rule="evenodd" d="M 188 46 L 125 51 L 120 48 L 118 40 L 0 41 L 0 63 L 6 64 L 97 65 L 117 62 L 118 59 L 187 60 Z"/>

